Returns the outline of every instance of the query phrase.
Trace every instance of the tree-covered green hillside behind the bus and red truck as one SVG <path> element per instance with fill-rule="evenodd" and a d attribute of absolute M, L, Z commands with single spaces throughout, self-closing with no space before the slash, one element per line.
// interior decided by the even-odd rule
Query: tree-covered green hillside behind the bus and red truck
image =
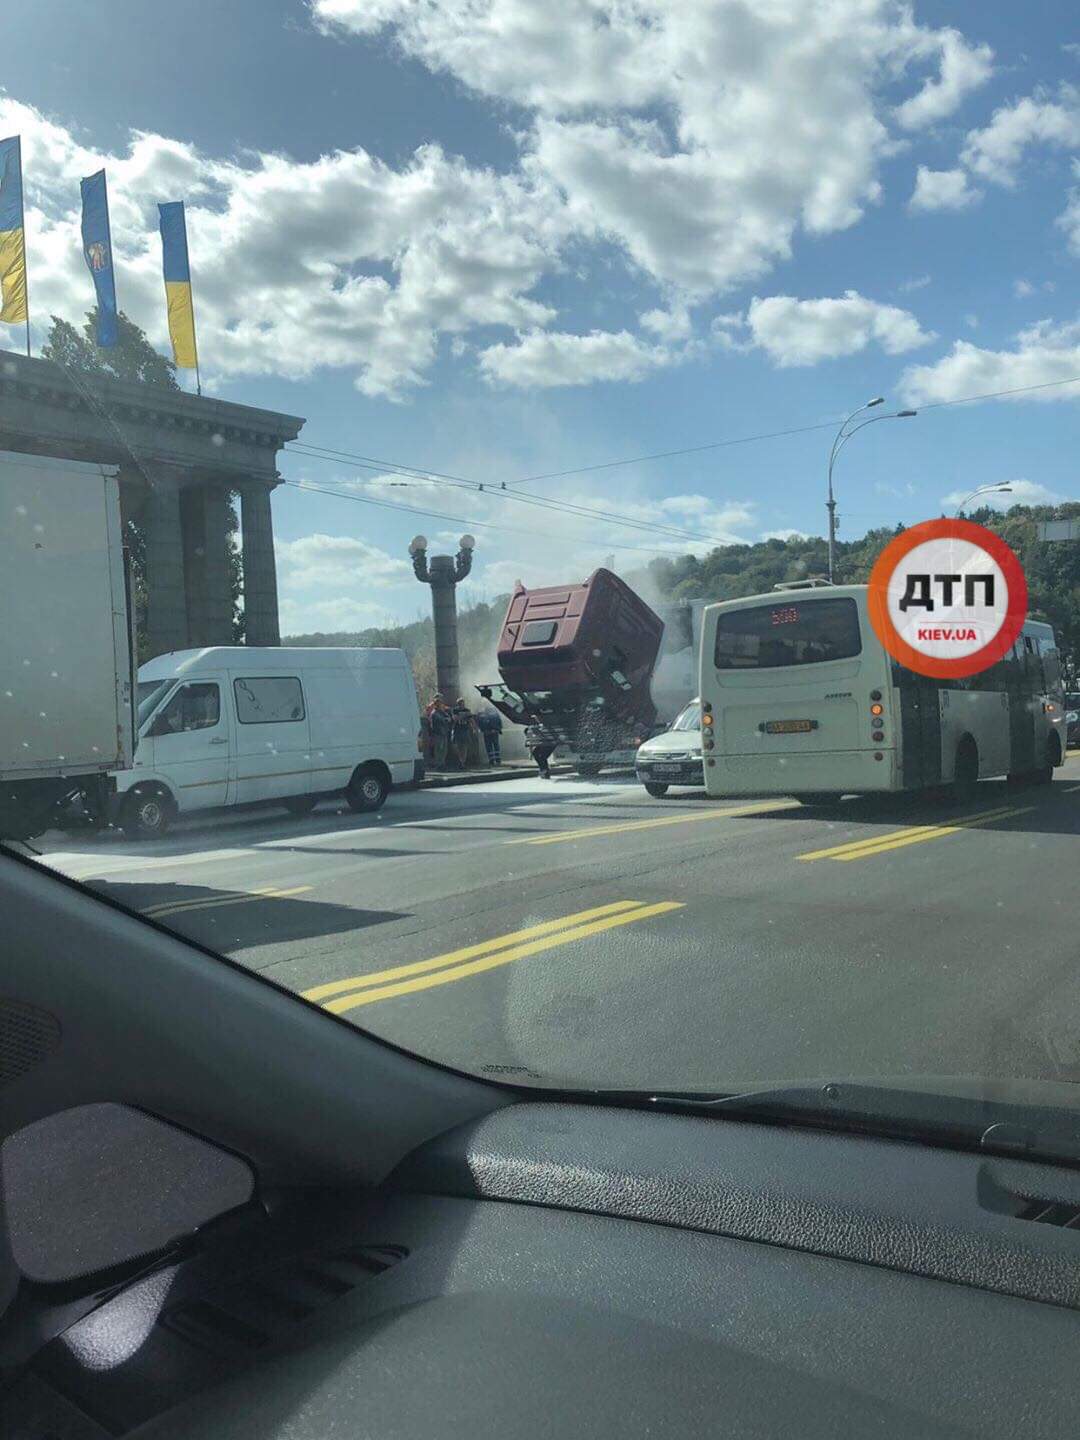
<path fill-rule="evenodd" d="M 1001 534 L 1020 556 L 1028 580 L 1028 611 L 1034 619 L 1050 621 L 1054 626 L 1070 683 L 1076 683 L 1074 677 L 1080 670 L 1080 541 L 1045 544 L 1038 539 L 1038 521 L 1077 517 L 1080 504 L 1014 505 L 1005 514 L 984 508 L 968 516 Z M 870 530 L 858 540 L 838 544 L 837 579 L 841 583 L 865 582 L 874 560 L 903 528 L 896 526 Z M 824 576 L 827 570 L 825 541 L 814 536 L 795 536 L 791 540 L 719 546 L 700 557 L 662 556 L 645 570 L 629 572 L 624 579 L 647 599 L 732 600 L 743 595 L 768 593 L 785 580 Z M 474 605 L 459 613 L 462 684 L 497 678 L 495 642 L 507 599 L 508 596 L 497 596 L 490 603 Z M 435 634 L 431 619 L 384 629 L 292 635 L 285 644 L 400 647 L 409 655 L 422 700 L 435 690 Z"/>

